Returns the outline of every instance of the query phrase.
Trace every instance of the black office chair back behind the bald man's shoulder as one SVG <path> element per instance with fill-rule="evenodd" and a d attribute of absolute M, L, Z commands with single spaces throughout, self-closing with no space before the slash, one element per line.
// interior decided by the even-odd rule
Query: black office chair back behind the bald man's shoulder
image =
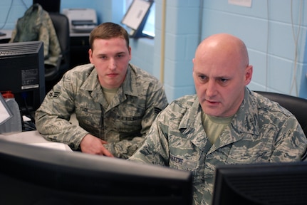
<path fill-rule="evenodd" d="M 271 93 L 265 91 L 254 91 L 263 95 L 269 100 L 273 100 L 275 102 L 279 102 L 279 105 L 285 107 L 287 110 L 292 112 L 292 114 L 296 117 L 298 122 L 300 123 L 303 132 L 307 137 L 307 100 L 303 98 L 298 98 L 291 95 L 281 94 L 281 93 Z M 302 161 L 307 159 L 307 152 L 303 154 Z"/>

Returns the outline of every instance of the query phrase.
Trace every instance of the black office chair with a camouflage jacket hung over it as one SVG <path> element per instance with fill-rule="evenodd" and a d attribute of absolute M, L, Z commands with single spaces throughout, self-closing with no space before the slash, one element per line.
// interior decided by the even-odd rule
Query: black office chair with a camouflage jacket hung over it
<path fill-rule="evenodd" d="M 67 16 L 59 13 L 49 13 L 53 26 L 56 29 L 58 42 L 61 46 L 61 55 L 58 64 L 52 68 L 45 68 L 45 82 L 58 80 L 65 73 L 70 65 L 70 38 L 69 38 L 69 21 Z"/>

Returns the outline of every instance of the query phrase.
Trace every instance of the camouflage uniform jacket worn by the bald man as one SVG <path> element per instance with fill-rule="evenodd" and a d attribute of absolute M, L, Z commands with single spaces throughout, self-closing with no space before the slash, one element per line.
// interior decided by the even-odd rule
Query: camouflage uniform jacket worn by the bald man
<path fill-rule="evenodd" d="M 218 164 L 296 162 L 306 144 L 291 112 L 246 88 L 238 112 L 213 145 L 202 125 L 199 100 L 188 95 L 160 112 L 129 160 L 192 172 L 194 204 L 211 204 Z"/>

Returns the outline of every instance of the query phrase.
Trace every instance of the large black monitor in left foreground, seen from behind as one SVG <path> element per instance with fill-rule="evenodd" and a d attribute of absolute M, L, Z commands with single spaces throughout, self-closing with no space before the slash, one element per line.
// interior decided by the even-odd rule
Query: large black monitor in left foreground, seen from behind
<path fill-rule="evenodd" d="M 192 175 L 0 140 L 0 204 L 192 204 Z"/>

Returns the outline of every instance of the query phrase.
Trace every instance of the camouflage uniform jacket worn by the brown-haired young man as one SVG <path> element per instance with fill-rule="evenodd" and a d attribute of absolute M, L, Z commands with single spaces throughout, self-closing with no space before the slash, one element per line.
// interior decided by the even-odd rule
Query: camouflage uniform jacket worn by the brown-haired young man
<path fill-rule="evenodd" d="M 36 128 L 47 140 L 71 149 L 90 133 L 109 142 L 115 156 L 128 158 L 139 147 L 157 113 L 167 106 L 162 84 L 144 70 L 128 65 L 128 73 L 108 105 L 93 64 L 68 70 L 36 110 Z M 79 126 L 71 125 L 75 112 Z"/>

